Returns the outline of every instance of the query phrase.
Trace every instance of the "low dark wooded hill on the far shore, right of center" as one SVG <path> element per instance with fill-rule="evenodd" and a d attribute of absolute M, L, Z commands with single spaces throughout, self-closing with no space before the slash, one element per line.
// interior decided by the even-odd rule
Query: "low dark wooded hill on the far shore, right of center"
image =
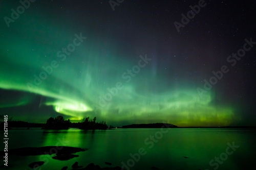
<path fill-rule="evenodd" d="M 172 124 L 156 123 L 156 124 L 125 125 L 125 126 L 122 126 L 122 128 L 177 128 L 177 126 Z"/>

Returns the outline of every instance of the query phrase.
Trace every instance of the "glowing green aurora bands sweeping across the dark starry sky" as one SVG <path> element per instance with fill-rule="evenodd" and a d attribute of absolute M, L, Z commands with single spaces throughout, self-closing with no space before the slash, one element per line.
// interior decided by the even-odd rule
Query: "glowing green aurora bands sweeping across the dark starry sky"
<path fill-rule="evenodd" d="M 10 16 L 10 9 L 18 6 L 18 3 L 4 3 L 6 8 L 2 7 L 1 18 Z M 198 93 L 197 88 L 203 88 L 203 80 L 208 80 L 211 71 L 219 69 L 220 64 L 204 70 L 195 64 L 186 69 L 186 64 L 177 66 L 176 56 L 168 60 L 168 72 L 165 72 L 165 66 L 159 65 L 165 62 L 162 59 L 177 55 L 175 47 L 159 52 L 157 45 L 149 40 L 140 42 L 140 46 L 131 45 L 138 41 L 138 35 L 134 34 L 134 41 L 125 43 L 121 38 L 111 38 L 118 36 L 117 33 L 104 33 L 114 27 L 113 21 L 105 28 L 94 30 L 89 16 L 84 17 L 83 24 L 76 25 L 73 20 L 78 14 L 62 16 L 64 12 L 58 9 L 53 19 L 50 12 L 44 11 L 46 6 L 49 2 L 31 4 L 9 28 L 4 19 L 1 20 L 0 88 L 5 96 L 0 109 L 10 114 L 9 117 L 45 122 L 45 118 L 60 113 L 73 121 L 96 116 L 108 125 L 117 126 L 157 122 L 177 126 L 243 123 L 241 107 L 230 100 L 222 102 L 229 98 L 221 88 L 223 82 L 218 82 L 203 96 Z M 53 11 L 57 7 L 48 8 Z M 79 45 L 70 45 L 79 36 L 83 37 L 75 41 L 80 42 Z M 75 49 L 68 53 L 63 51 L 72 47 Z M 193 56 L 188 56 L 188 52 L 183 55 Z M 143 60 L 146 57 L 148 61 Z M 138 67 L 139 63 L 143 66 Z M 193 75 L 189 72 L 197 74 L 198 70 L 201 73 L 197 79 L 190 79 Z M 40 76 L 44 80 L 39 80 Z M 16 92 L 19 95 L 15 95 Z M 38 98 L 38 105 L 33 106 L 37 107 L 36 111 L 28 109 L 19 113 L 11 109 L 29 108 Z"/>

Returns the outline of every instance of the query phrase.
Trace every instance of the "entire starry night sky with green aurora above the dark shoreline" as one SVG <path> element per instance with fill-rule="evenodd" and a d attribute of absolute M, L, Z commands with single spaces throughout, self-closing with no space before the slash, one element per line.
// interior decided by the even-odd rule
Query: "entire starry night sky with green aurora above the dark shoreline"
<path fill-rule="evenodd" d="M 256 1 L 113 2 L 0 1 L 0 114 L 255 125 Z"/>

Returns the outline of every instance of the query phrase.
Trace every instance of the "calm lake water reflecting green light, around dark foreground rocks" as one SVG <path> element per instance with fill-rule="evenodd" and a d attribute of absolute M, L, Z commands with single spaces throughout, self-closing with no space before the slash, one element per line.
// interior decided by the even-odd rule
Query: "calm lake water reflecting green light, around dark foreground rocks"
<path fill-rule="evenodd" d="M 63 166 L 71 169 L 75 161 L 83 167 L 92 162 L 109 167 L 104 164 L 106 161 L 111 162 L 112 167 L 125 162 L 129 169 L 152 169 L 152 166 L 159 169 L 255 169 L 255 139 L 256 131 L 251 129 L 164 129 L 164 133 L 160 129 L 10 130 L 9 149 L 57 144 L 88 148 L 88 151 L 78 152 L 79 157 L 68 161 L 47 156 L 9 156 L 7 169 L 31 169 L 28 164 L 40 159 L 47 162 L 41 169 L 61 169 Z M 227 143 L 232 145 L 233 142 L 239 148 L 235 148 L 236 151 L 228 149 L 227 154 Z M 135 158 L 131 154 L 135 154 Z M 220 156 L 220 163 L 214 160 L 209 165 L 212 159 Z"/>

